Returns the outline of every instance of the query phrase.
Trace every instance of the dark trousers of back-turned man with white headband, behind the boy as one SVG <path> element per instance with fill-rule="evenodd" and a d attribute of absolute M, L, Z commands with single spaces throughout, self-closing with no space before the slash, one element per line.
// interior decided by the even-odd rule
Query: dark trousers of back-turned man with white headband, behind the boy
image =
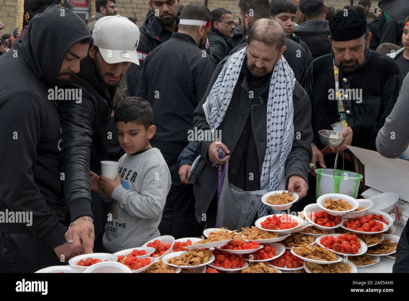
<path fill-rule="evenodd" d="M 175 239 L 196 237 L 199 224 L 195 218 L 193 185 L 180 181 L 178 154 L 162 152 L 162 155 L 171 173 L 172 186 L 158 227 L 160 234 L 172 235 Z"/>

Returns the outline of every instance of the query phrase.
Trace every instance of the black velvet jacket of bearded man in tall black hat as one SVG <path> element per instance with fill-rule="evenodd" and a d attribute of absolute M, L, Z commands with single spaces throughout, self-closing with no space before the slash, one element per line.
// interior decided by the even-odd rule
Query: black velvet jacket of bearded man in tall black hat
<path fill-rule="evenodd" d="M 398 64 L 387 55 L 372 50 L 363 68 L 353 73 L 339 70 L 340 89 L 362 89 L 362 99 L 358 100 L 356 94 L 355 100 L 343 99 L 346 122 L 353 131 L 351 145 L 376 150 L 376 135 L 398 99 L 402 81 Z M 302 85 L 312 104 L 314 143 L 323 149 L 325 146 L 319 140 L 318 131 L 331 129 L 331 124 L 339 122 L 337 100 L 329 100 L 329 90 L 335 90 L 333 55 L 315 59 Z"/>

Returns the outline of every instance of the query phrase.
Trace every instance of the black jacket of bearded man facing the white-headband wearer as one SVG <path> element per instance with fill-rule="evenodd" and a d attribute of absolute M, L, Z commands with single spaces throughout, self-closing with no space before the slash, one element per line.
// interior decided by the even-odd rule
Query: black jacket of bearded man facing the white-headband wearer
<path fill-rule="evenodd" d="M 178 14 L 180 15 L 180 12 Z M 178 31 L 179 21 L 180 17 L 178 16 L 178 19 L 176 20 L 175 32 Z M 159 23 L 159 21 L 155 17 L 155 13 L 152 13 L 146 17 L 144 23 L 142 23 L 140 32 L 141 37 L 137 48 L 139 66 L 136 64 L 131 64 L 126 71 L 129 96 L 136 95 L 135 93 L 139 84 L 142 64 L 144 63 L 145 57 L 149 54 L 149 52 L 154 50 L 157 46 L 162 45 L 162 43 L 168 41 L 172 36 L 172 32 L 164 29 L 164 27 Z M 211 57 L 209 41 L 207 39 L 203 44 L 202 50 L 206 50 L 207 54 Z"/>

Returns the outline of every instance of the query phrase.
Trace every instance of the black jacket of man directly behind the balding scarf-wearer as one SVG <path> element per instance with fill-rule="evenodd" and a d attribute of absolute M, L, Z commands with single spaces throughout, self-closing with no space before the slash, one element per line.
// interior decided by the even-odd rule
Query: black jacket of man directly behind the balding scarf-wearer
<path fill-rule="evenodd" d="M 246 39 L 243 38 L 238 45 L 230 51 L 229 55 L 238 52 L 240 48 L 246 46 Z M 288 38 L 284 41 L 284 46 L 287 47 L 283 52 L 283 57 L 290 65 L 294 72 L 294 77 L 298 82 L 301 82 L 304 78 L 308 68 L 308 56 L 305 50 L 297 42 L 294 42 Z"/>

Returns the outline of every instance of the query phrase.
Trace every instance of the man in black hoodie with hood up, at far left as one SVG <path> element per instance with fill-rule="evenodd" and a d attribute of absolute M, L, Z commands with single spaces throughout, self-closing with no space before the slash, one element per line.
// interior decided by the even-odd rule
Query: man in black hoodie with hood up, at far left
<path fill-rule="evenodd" d="M 0 149 L 0 272 L 35 272 L 79 255 L 64 237 L 61 127 L 51 91 L 79 72 L 91 41 L 79 16 L 53 5 L 0 59 L 0 74 L 8 74 L 0 81 L 7 145 Z"/>

